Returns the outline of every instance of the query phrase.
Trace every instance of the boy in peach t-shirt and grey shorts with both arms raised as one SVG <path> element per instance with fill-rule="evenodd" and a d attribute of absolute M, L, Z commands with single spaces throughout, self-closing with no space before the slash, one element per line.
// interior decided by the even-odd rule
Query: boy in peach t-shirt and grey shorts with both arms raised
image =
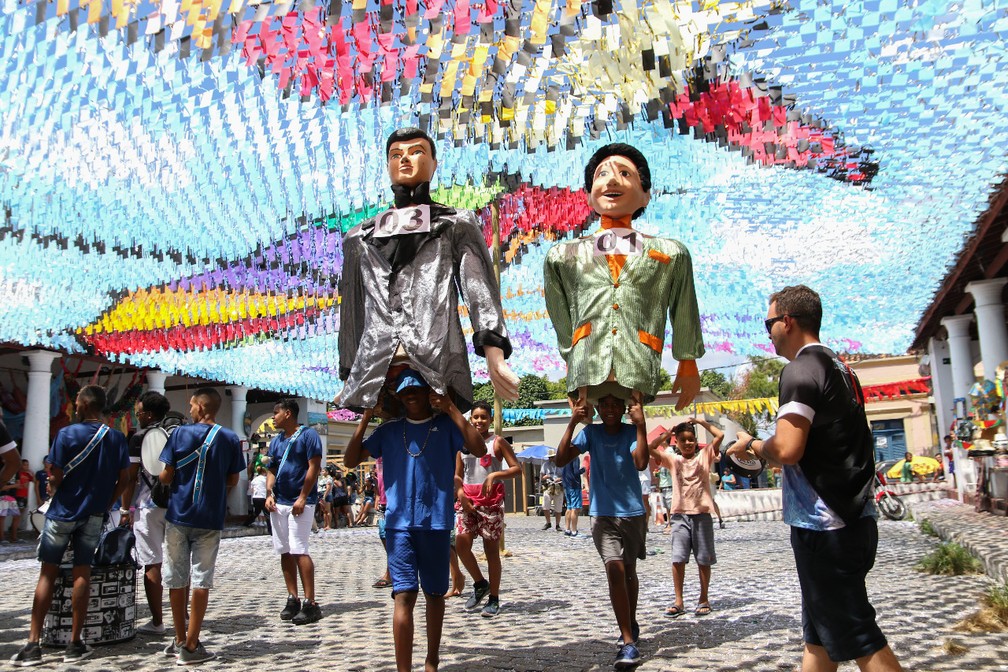
<path fill-rule="evenodd" d="M 696 425 L 701 425 L 714 436 L 714 439 L 704 448 L 697 450 Z M 700 571 L 700 598 L 697 601 L 696 616 L 707 616 L 711 613 L 707 589 L 711 584 L 711 565 L 718 561 L 714 552 L 714 496 L 711 494 L 711 467 L 721 456 L 719 447 L 725 432 L 721 431 L 704 419 L 689 418 L 688 422 L 680 422 L 672 427 L 670 432 L 675 437 L 675 447 L 681 454 L 672 450 L 652 450 L 651 454 L 662 466 L 672 473 L 672 584 L 675 588 L 675 603 L 665 610 L 665 614 L 676 618 L 685 613 L 682 602 L 682 583 L 686 573 L 686 563 L 689 552 L 697 558 Z"/>

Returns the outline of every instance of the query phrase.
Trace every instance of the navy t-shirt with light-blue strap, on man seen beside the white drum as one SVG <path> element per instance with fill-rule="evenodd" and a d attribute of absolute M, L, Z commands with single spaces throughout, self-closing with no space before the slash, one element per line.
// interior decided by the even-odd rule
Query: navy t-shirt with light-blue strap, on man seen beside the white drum
<path fill-rule="evenodd" d="M 181 425 L 168 437 L 161 450 L 161 461 L 175 467 L 171 480 L 171 496 L 164 520 L 175 525 L 196 527 L 204 530 L 223 530 L 224 517 L 228 511 L 228 477 L 245 468 L 238 434 L 221 427 L 207 450 L 200 497 L 193 501 L 193 487 L 196 482 L 199 459 L 194 459 L 182 467 L 177 463 L 200 449 L 207 438 L 210 425 L 197 423 Z"/>

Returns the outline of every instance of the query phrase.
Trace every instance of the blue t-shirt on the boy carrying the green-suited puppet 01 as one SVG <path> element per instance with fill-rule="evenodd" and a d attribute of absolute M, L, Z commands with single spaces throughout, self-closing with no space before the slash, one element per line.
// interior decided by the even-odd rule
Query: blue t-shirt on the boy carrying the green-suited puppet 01
<path fill-rule="evenodd" d="M 635 426 L 621 422 L 619 432 L 610 434 L 601 424 L 589 425 L 574 437 L 572 444 L 579 452 L 592 456 L 590 515 L 614 518 L 644 515 L 640 474 L 633 462 L 637 447 Z"/>

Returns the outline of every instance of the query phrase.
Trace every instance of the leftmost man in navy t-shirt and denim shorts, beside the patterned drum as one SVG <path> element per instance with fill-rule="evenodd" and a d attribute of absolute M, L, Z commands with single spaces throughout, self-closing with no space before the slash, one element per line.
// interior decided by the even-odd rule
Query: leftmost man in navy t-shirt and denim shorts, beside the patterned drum
<path fill-rule="evenodd" d="M 77 395 L 80 421 L 64 427 L 49 451 L 52 502 L 38 538 L 38 559 L 42 563 L 31 604 L 28 643 L 11 659 L 19 667 L 38 665 L 42 652 L 38 640 L 42 623 L 52 603 L 52 588 L 59 563 L 71 540 L 74 542 L 74 590 L 71 642 L 65 662 L 90 656 L 91 647 L 81 641 L 81 629 L 88 613 L 91 560 L 102 532 L 102 519 L 126 487 L 129 450 L 122 432 L 102 422 L 105 390 L 88 385 Z"/>

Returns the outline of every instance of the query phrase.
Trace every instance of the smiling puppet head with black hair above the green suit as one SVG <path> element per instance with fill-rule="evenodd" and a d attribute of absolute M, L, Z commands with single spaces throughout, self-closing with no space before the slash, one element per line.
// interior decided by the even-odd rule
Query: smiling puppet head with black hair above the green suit
<path fill-rule="evenodd" d="M 636 148 L 615 142 L 599 148 L 585 166 L 588 205 L 613 219 L 637 219 L 651 200 L 651 169 Z"/>

